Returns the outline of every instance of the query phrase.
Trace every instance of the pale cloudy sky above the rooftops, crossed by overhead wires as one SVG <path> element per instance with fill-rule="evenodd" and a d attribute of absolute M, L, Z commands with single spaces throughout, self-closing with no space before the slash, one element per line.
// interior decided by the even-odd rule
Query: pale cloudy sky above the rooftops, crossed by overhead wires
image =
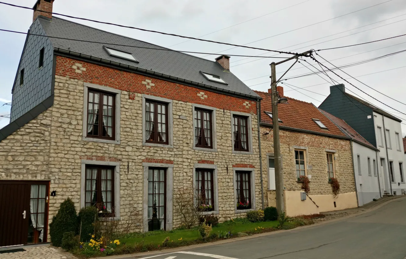
<path fill-rule="evenodd" d="M 13 4 L 18 2 L 19 5 L 32 7 L 36 0 L 8 0 L 7 2 Z M 351 13 L 374 4 L 379 5 Z M 192 37 L 205 35 L 202 37 L 203 39 L 215 41 L 239 45 L 250 43 L 247 45 L 294 52 L 352 45 L 406 33 L 406 4 L 404 0 L 56 0 L 54 2 L 54 12 Z M 334 17 L 338 18 L 332 19 Z M 175 50 L 253 56 L 274 55 L 274 53 L 242 47 L 231 49 L 231 46 L 215 43 L 195 40 L 185 42 L 186 39 L 179 37 L 164 36 L 151 32 L 141 32 L 75 19 L 71 20 L 164 47 L 171 47 Z M 322 22 L 325 20 L 328 21 Z M 31 10 L 0 5 L 0 28 L 26 32 L 31 23 Z M 308 26 L 311 24 L 315 25 Z M 307 27 L 298 29 L 304 26 Z M 359 28 L 361 26 L 362 28 Z M 3 104 L 11 101 L 11 88 L 24 40 L 25 35 L 0 32 L 0 115 L 9 114 L 10 112 L 10 106 L 3 106 Z M 251 43 L 253 41 L 256 42 Z M 400 50 L 406 50 L 406 36 L 338 50 L 326 50 L 319 53 L 323 58 L 330 61 L 333 60 L 331 62 L 334 65 L 340 66 Z M 218 55 L 206 56 L 201 54 L 197 56 L 205 56 L 207 59 L 214 60 Z M 287 55 L 281 54 L 277 56 Z M 317 56 L 316 58 L 322 61 L 322 58 Z M 351 76 L 357 77 L 358 80 L 368 86 L 406 103 L 406 88 L 404 87 L 404 75 L 406 73 L 405 58 L 406 52 L 403 52 L 343 70 Z M 272 60 L 278 61 L 279 59 L 231 57 L 231 71 L 252 89 L 267 91 L 270 88 L 269 64 Z M 306 60 L 314 64 L 309 58 L 306 58 Z M 291 61 L 279 65 L 276 67 L 276 71 L 283 72 L 292 63 Z M 307 64 L 305 62 L 302 63 Z M 325 63 L 325 65 L 330 67 L 328 63 Z M 313 67 L 310 68 L 315 70 Z M 384 71 L 389 69 L 393 70 Z M 296 63 L 284 78 L 307 72 L 310 71 L 301 64 Z M 349 78 L 349 76 L 341 71 L 336 71 L 336 73 L 343 78 Z M 281 76 L 282 73 L 278 75 Z M 343 82 L 339 81 L 339 78 L 332 73 L 330 73 L 330 76 L 339 83 Z M 323 75 L 323 77 L 329 80 L 326 76 Z M 348 81 L 385 104 L 406 113 L 406 105 L 393 101 L 354 79 Z M 323 95 L 328 95 L 330 92 L 329 86 L 331 83 L 327 83 L 317 75 L 296 78 L 285 82 L 300 88 L 311 86 L 305 89 L 320 93 L 320 95 L 305 90 L 292 90 L 286 84 L 283 85 L 285 95 L 312 102 L 316 106 L 320 105 L 321 101 L 325 99 Z M 318 85 L 313 86 L 316 84 Z M 346 82 L 344 84 L 347 92 L 351 93 L 350 91 L 353 91 L 372 104 L 391 112 L 395 116 L 404 118 L 403 120 L 406 123 L 406 115 L 380 104 L 350 84 Z M 8 122 L 9 119 L 0 117 L 0 128 L 4 127 Z M 403 136 L 406 132 L 405 126 L 402 124 Z"/>

